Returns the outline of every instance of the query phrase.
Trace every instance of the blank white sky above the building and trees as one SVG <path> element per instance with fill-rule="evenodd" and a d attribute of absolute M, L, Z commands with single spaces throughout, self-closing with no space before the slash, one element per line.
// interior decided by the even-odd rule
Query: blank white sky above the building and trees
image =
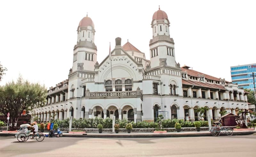
<path fill-rule="evenodd" d="M 95 25 L 100 63 L 115 47 L 132 43 L 149 57 L 151 20 L 165 11 L 171 22 L 176 62 L 231 81 L 230 66 L 255 63 L 256 1 L 0 1 L 0 61 L 8 69 L 0 85 L 19 73 L 47 88 L 68 78 L 77 26 Z"/>

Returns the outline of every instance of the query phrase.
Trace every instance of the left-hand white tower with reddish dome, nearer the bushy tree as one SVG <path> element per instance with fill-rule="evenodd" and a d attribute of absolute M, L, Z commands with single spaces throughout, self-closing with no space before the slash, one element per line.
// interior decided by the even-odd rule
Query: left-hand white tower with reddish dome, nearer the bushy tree
<path fill-rule="evenodd" d="M 94 24 L 86 15 L 77 27 L 77 42 L 74 46 L 73 66 L 68 74 L 68 99 L 83 96 L 85 86 L 82 86 L 84 78 L 94 78 L 94 65 L 97 62 L 97 47 L 94 44 Z M 72 102 L 77 112 L 80 102 Z M 77 106 L 77 107 L 75 107 Z M 76 113 L 76 114 L 80 114 Z"/>

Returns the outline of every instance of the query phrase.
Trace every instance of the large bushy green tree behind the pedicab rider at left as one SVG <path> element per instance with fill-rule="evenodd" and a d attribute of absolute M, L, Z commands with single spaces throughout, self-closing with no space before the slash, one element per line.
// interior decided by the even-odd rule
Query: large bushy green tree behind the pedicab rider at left
<path fill-rule="evenodd" d="M 39 83 L 23 81 L 20 76 L 14 81 L 0 86 L 0 112 L 7 117 L 10 112 L 10 123 L 17 123 L 23 110 L 29 110 L 37 102 L 44 102 L 47 90 Z"/>

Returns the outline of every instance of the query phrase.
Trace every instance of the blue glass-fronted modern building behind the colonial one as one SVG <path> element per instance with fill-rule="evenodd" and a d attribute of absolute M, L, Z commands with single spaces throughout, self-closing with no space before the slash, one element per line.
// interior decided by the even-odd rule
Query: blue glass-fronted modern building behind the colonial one
<path fill-rule="evenodd" d="M 252 72 L 256 73 L 256 63 L 230 67 L 232 83 L 237 83 L 238 87 L 244 89 L 254 90 Z M 256 77 L 254 81 L 256 83 Z"/>

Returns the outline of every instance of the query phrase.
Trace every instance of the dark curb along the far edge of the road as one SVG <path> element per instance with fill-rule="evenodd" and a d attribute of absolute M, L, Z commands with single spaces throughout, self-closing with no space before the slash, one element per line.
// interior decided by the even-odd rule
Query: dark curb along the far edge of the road
<path fill-rule="evenodd" d="M 255 131 L 253 132 L 234 132 L 232 136 L 238 136 L 238 135 L 256 135 Z M 12 136 L 14 137 L 14 133 L 1 133 L 0 136 Z M 212 136 L 211 133 L 186 133 L 186 134 L 148 134 L 148 135 L 69 135 L 69 134 L 63 134 L 62 137 L 84 137 L 84 138 L 161 138 L 161 137 L 200 137 L 200 136 Z M 226 136 L 224 134 L 220 134 L 220 136 Z"/>

